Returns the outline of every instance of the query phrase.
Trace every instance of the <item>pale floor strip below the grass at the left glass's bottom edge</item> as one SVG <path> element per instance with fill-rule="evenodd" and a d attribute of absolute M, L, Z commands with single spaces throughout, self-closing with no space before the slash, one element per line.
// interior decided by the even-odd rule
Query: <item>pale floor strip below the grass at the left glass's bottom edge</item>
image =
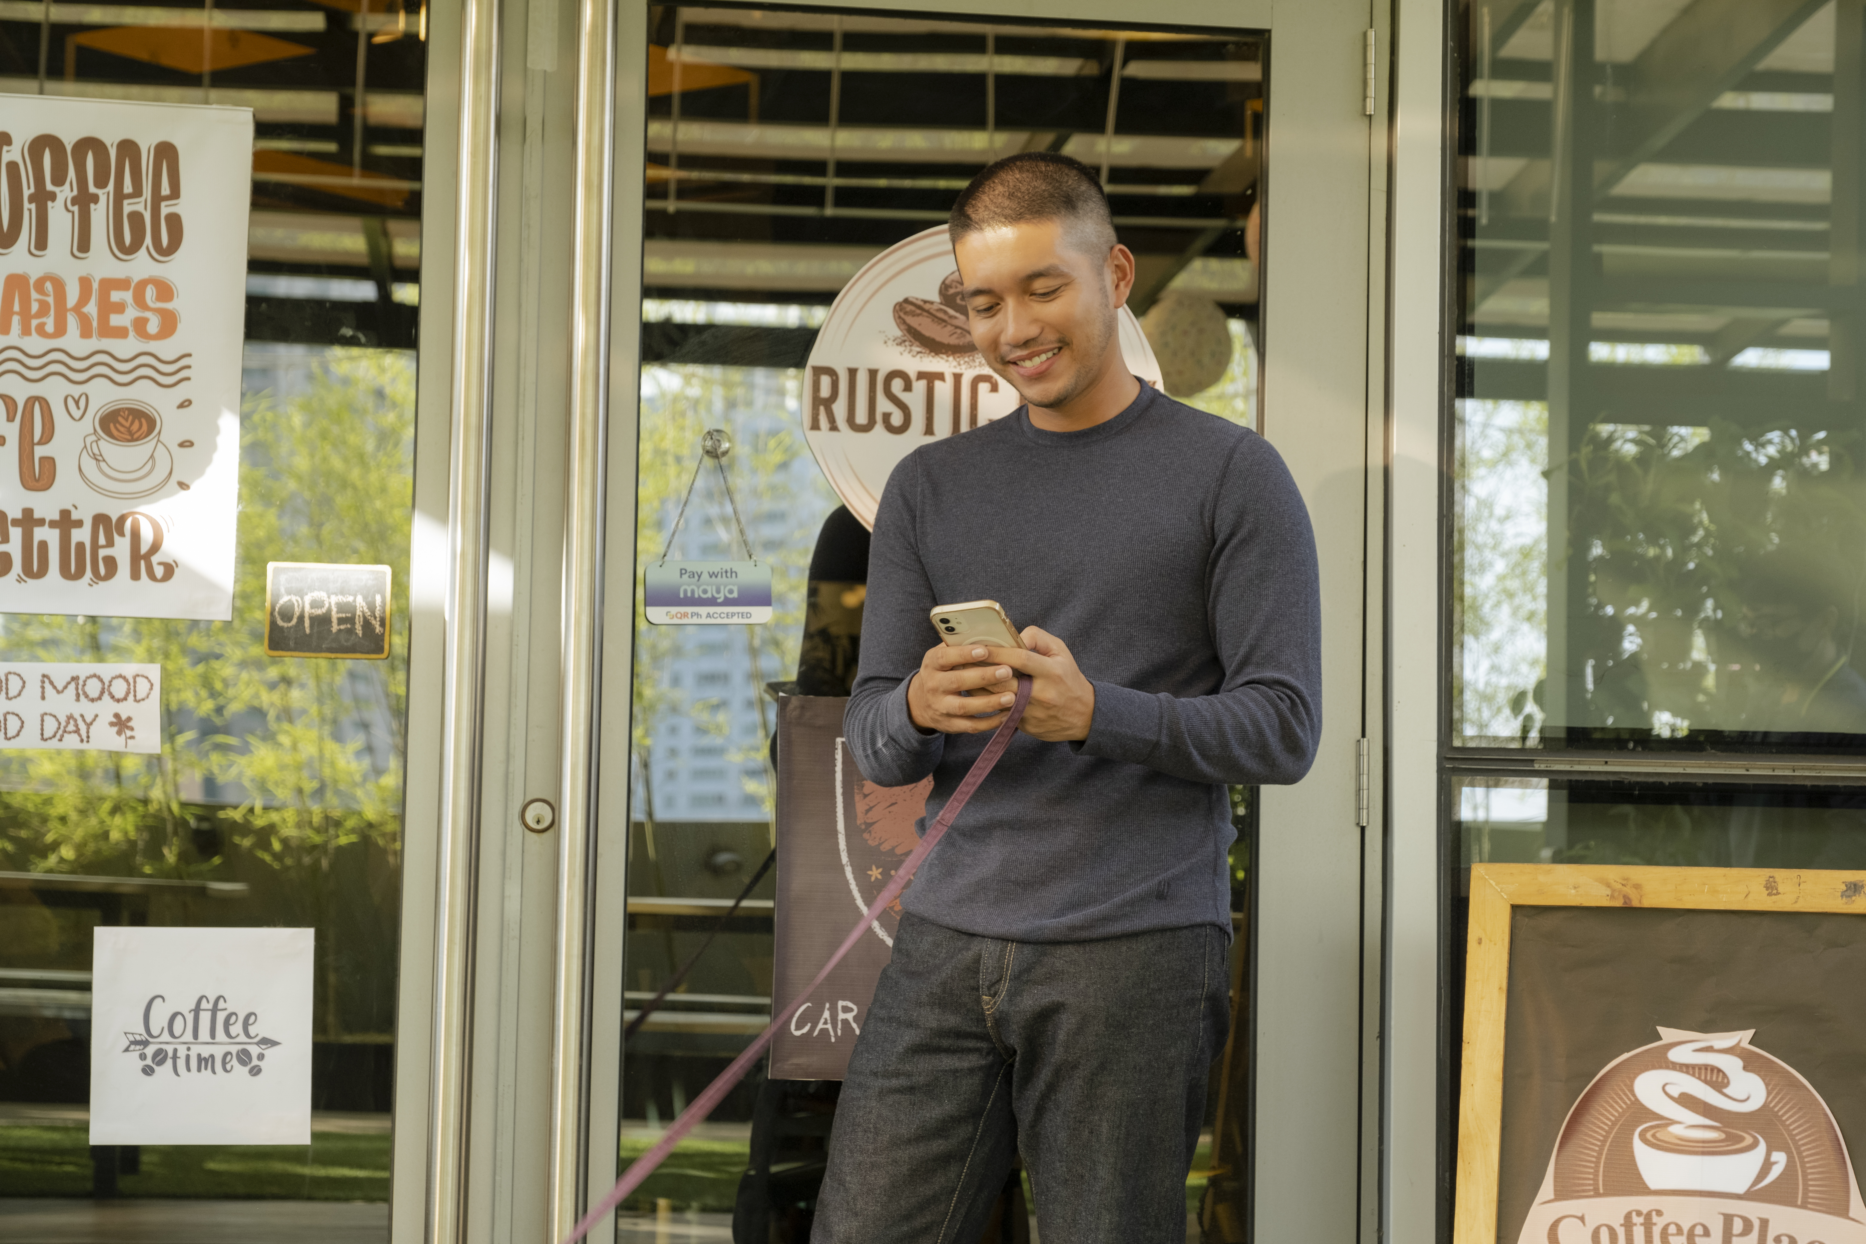
<path fill-rule="evenodd" d="M 7 1244 L 388 1244 L 388 1207 L 347 1201 L 21 1197 L 0 1199 L 0 1240 Z"/>

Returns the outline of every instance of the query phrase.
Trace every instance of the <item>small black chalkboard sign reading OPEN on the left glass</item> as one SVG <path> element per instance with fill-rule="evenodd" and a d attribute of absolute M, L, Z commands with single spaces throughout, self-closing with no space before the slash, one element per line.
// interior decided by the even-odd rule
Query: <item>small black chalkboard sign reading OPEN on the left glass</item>
<path fill-rule="evenodd" d="M 265 655 L 388 657 L 390 569 L 321 561 L 267 561 Z"/>

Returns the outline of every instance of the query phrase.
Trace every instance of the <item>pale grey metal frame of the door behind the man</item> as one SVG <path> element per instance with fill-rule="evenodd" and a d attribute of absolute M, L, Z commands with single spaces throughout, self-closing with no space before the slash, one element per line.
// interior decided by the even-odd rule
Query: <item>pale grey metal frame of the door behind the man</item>
<path fill-rule="evenodd" d="M 855 0 L 817 7 L 871 9 Z M 993 0 L 948 0 L 940 15 L 989 19 Z M 1019 6 L 1017 17 L 1067 24 L 1148 24 L 1127 0 Z M 1385 438 L 1383 386 L 1372 366 L 1385 347 L 1377 313 L 1385 289 L 1385 127 L 1364 112 L 1366 32 L 1375 47 L 1386 22 L 1368 4 L 1273 4 L 1273 0 L 1181 0 L 1174 24 L 1271 34 L 1265 203 L 1265 433 L 1284 453 L 1310 500 L 1323 558 L 1325 733 L 1316 768 L 1297 787 L 1265 798 L 1265 834 L 1254 871 L 1254 1031 L 1258 1132 L 1254 1220 L 1258 1238 L 1373 1238 L 1377 1223 L 1377 1061 L 1381 856 L 1357 824 L 1358 740 L 1377 735 L 1370 690 L 1379 703 L 1377 614 L 1368 614 L 1368 548 L 1379 548 L 1379 472 L 1370 457 Z M 616 97 L 616 261 L 610 272 L 608 565 L 605 597 L 605 692 L 601 709 L 606 772 L 627 772 L 629 658 L 633 634 L 634 433 L 638 414 L 640 213 L 646 160 L 646 11 L 621 6 Z M 1385 69 L 1377 62 L 1375 108 L 1385 114 Z M 1274 259 L 1269 256 L 1274 254 Z M 1291 269 L 1297 269 L 1291 272 Z M 1366 334 L 1340 351 L 1342 306 L 1370 308 Z M 1330 341 L 1332 334 L 1332 341 Z M 1321 412 L 1330 418 L 1321 418 Z M 1358 446 L 1345 461 L 1340 446 Z M 1375 543 L 1370 541 L 1370 524 Z M 1375 606 L 1377 608 L 1377 606 Z M 1370 625 L 1370 619 L 1375 625 Z M 1379 746 L 1373 748 L 1381 752 Z M 621 974 L 627 895 L 627 783 L 601 789 L 595 822 L 597 867 L 590 940 L 590 1097 L 584 1181 L 601 1192 L 616 1177 L 621 1067 Z M 1278 826 L 1289 826 L 1288 832 Z M 1327 826 L 1327 828 L 1323 828 Z M 1265 970 L 1265 966 L 1269 970 Z M 1375 1005 L 1370 1005 L 1375 1003 Z M 1267 1067 L 1274 1065 L 1274 1072 Z M 1373 1074 L 1370 1074 L 1373 1072 Z M 562 1115 L 571 1113 L 565 1102 Z M 1353 1175 L 1349 1175 L 1353 1173 Z M 1353 1196 L 1344 1196 L 1347 1184 Z M 567 1203 L 586 1205 L 584 1192 Z M 606 1227 L 606 1223 L 605 1223 Z M 599 1227 L 599 1231 L 605 1231 Z M 610 1238 L 605 1233 L 605 1238 Z"/>

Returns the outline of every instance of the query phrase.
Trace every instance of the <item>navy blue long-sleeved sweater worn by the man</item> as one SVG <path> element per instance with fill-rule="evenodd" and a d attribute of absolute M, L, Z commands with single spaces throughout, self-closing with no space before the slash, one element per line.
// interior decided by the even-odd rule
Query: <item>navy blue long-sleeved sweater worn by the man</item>
<path fill-rule="evenodd" d="M 1316 541 L 1276 449 L 1142 386 L 1097 427 L 1019 407 L 894 470 L 843 733 L 870 781 L 933 774 L 927 817 L 989 735 L 922 735 L 907 681 L 927 610 L 976 599 L 1062 638 L 1095 718 L 1080 742 L 1011 740 L 905 910 L 1028 942 L 1230 931 L 1224 787 L 1301 780 L 1321 735 Z"/>

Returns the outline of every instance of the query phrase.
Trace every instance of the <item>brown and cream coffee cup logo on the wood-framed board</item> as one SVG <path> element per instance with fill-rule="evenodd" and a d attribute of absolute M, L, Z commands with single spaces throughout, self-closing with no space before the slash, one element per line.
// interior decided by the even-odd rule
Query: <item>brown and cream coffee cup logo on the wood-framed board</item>
<path fill-rule="evenodd" d="M 1832 1112 L 1754 1035 L 1661 1028 L 1601 1071 L 1517 1244 L 1866 1244 Z"/>

